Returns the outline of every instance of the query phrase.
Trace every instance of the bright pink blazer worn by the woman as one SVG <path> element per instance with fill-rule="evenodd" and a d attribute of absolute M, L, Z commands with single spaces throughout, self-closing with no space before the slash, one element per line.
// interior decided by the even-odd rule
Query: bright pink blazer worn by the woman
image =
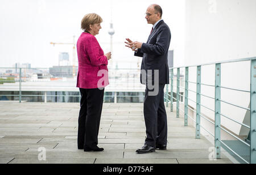
<path fill-rule="evenodd" d="M 93 89 L 108 86 L 108 59 L 96 37 L 83 32 L 77 41 L 79 69 L 76 87 Z"/>

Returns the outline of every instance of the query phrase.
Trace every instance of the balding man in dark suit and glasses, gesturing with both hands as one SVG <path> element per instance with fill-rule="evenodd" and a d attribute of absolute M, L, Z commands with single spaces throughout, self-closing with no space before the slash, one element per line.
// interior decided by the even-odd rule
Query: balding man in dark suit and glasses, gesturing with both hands
<path fill-rule="evenodd" d="M 162 8 L 150 5 L 146 11 L 148 24 L 152 30 L 146 43 L 126 39 L 127 47 L 135 51 L 135 56 L 143 57 L 141 65 L 141 83 L 146 84 L 144 98 L 144 121 L 147 138 L 138 153 L 166 150 L 167 115 L 164 107 L 164 86 L 169 84 L 168 49 L 171 32 L 162 20 Z"/>

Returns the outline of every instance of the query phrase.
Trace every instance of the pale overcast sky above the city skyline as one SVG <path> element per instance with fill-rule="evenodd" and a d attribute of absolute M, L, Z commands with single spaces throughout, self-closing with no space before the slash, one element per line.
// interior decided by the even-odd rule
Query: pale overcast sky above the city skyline
<path fill-rule="evenodd" d="M 77 41 L 82 32 L 81 19 L 90 12 L 104 20 L 100 34 L 96 36 L 104 52 L 110 51 L 108 30 L 112 19 L 115 30 L 113 60 L 118 64 L 141 62 L 141 58 L 134 57 L 123 42 L 126 37 L 147 41 L 152 25 L 147 24 L 144 13 L 152 3 L 163 8 L 163 20 L 172 33 L 170 50 L 175 50 L 176 64 L 182 65 L 185 0 L 1 0 L 0 67 L 12 67 L 16 62 L 31 63 L 31 67 L 50 67 L 58 64 L 59 52 L 68 52 L 72 63 L 72 45 L 53 47 L 49 43 L 72 42 L 73 35 Z M 126 66 L 131 68 L 129 64 Z"/>

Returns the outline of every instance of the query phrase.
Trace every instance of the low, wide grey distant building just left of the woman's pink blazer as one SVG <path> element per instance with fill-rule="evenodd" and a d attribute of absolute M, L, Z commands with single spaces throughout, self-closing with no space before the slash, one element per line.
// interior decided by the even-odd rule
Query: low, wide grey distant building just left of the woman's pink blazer
<path fill-rule="evenodd" d="M 78 67 L 75 67 L 76 75 Z M 72 77 L 73 76 L 73 66 L 53 66 L 49 68 L 49 74 L 56 77 Z"/>

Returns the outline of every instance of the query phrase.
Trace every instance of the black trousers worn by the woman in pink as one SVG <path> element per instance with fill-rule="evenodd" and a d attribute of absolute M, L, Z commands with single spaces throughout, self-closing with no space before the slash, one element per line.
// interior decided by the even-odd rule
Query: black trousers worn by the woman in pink
<path fill-rule="evenodd" d="M 79 88 L 81 93 L 77 147 L 94 149 L 98 144 L 104 89 Z"/>

